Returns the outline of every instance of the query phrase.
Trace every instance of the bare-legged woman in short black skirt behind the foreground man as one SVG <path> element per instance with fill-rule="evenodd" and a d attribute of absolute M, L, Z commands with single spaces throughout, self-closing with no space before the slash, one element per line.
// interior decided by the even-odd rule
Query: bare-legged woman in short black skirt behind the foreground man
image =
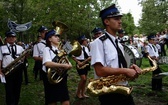
<path fill-rule="evenodd" d="M 76 62 L 76 69 L 77 69 L 78 75 L 80 76 L 80 82 L 78 84 L 76 97 L 79 99 L 83 99 L 83 98 L 89 97 L 85 94 L 85 88 L 86 88 L 85 85 L 86 85 L 86 81 L 87 81 L 87 74 L 88 74 L 88 71 L 90 70 L 89 61 L 90 61 L 91 57 L 89 54 L 89 49 L 87 47 L 88 44 L 87 44 L 87 39 L 86 39 L 85 35 L 80 36 L 78 41 L 81 44 L 82 53 L 78 57 L 72 56 L 72 59 Z M 87 64 L 87 66 L 84 68 L 77 67 L 77 65 L 79 67 L 82 67 L 86 64 Z"/>

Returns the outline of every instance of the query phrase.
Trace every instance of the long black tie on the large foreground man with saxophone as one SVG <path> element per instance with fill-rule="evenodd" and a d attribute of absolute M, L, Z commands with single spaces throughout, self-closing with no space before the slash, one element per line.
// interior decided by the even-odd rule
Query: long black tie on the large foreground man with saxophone
<path fill-rule="evenodd" d="M 121 64 L 122 64 L 122 66 L 124 68 L 127 68 L 127 62 L 125 60 L 125 57 L 123 56 L 122 51 L 118 47 L 118 39 L 115 40 L 115 43 L 116 43 L 116 49 L 117 49 L 117 52 L 118 52 L 118 64 L 119 64 L 119 67 L 121 68 Z"/>

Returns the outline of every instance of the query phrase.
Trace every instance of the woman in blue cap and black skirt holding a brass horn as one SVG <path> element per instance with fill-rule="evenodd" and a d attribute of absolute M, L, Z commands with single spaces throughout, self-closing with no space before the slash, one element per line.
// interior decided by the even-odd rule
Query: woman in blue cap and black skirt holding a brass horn
<path fill-rule="evenodd" d="M 61 64 L 53 62 L 53 58 L 60 52 L 59 46 L 59 35 L 56 35 L 55 30 L 51 30 L 45 35 L 46 46 L 43 50 L 43 83 L 45 91 L 45 104 L 56 105 L 57 102 L 61 102 L 61 105 L 69 105 L 69 92 L 67 87 L 67 75 L 64 76 L 63 80 L 57 84 L 51 84 L 47 78 L 47 68 L 62 68 L 69 70 L 72 68 L 71 64 Z"/>

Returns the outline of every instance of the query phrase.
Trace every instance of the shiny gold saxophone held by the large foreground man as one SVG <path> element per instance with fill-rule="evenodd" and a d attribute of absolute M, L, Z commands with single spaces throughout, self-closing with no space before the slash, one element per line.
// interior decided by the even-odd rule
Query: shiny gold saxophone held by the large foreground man
<path fill-rule="evenodd" d="M 153 66 L 144 68 L 141 71 L 141 74 L 154 71 L 157 69 L 157 63 L 152 60 L 149 56 L 148 59 L 152 61 Z M 128 81 L 132 80 L 132 78 L 128 78 L 125 75 L 111 75 L 107 77 L 101 77 L 99 79 L 92 80 L 89 82 L 87 86 L 87 91 L 90 93 L 92 96 L 99 96 L 102 94 L 108 94 L 108 93 L 120 93 L 120 94 L 125 94 L 128 95 L 132 91 L 132 87 L 127 87 L 123 85 L 117 85 L 118 82 L 120 81 Z"/>

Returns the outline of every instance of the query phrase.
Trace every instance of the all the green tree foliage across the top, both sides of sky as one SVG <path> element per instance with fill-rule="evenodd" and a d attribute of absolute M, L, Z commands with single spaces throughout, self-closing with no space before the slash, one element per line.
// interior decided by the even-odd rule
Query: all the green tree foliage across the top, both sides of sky
<path fill-rule="evenodd" d="M 167 0 L 139 0 L 143 7 L 140 26 L 134 25 L 131 13 L 123 16 L 123 29 L 128 35 L 159 32 L 167 28 Z M 32 27 L 22 33 L 18 33 L 18 40 L 31 42 L 36 40 L 37 29 L 44 25 L 53 29 L 53 21 L 65 23 L 69 30 L 64 33 L 63 38 L 74 40 L 79 35 L 85 34 L 91 38 L 94 27 L 103 28 L 99 12 L 105 7 L 115 3 L 117 0 L 1 0 L 0 1 L 0 34 L 9 30 L 8 19 L 18 24 L 32 21 Z M 120 7 L 119 7 L 120 8 Z"/>

